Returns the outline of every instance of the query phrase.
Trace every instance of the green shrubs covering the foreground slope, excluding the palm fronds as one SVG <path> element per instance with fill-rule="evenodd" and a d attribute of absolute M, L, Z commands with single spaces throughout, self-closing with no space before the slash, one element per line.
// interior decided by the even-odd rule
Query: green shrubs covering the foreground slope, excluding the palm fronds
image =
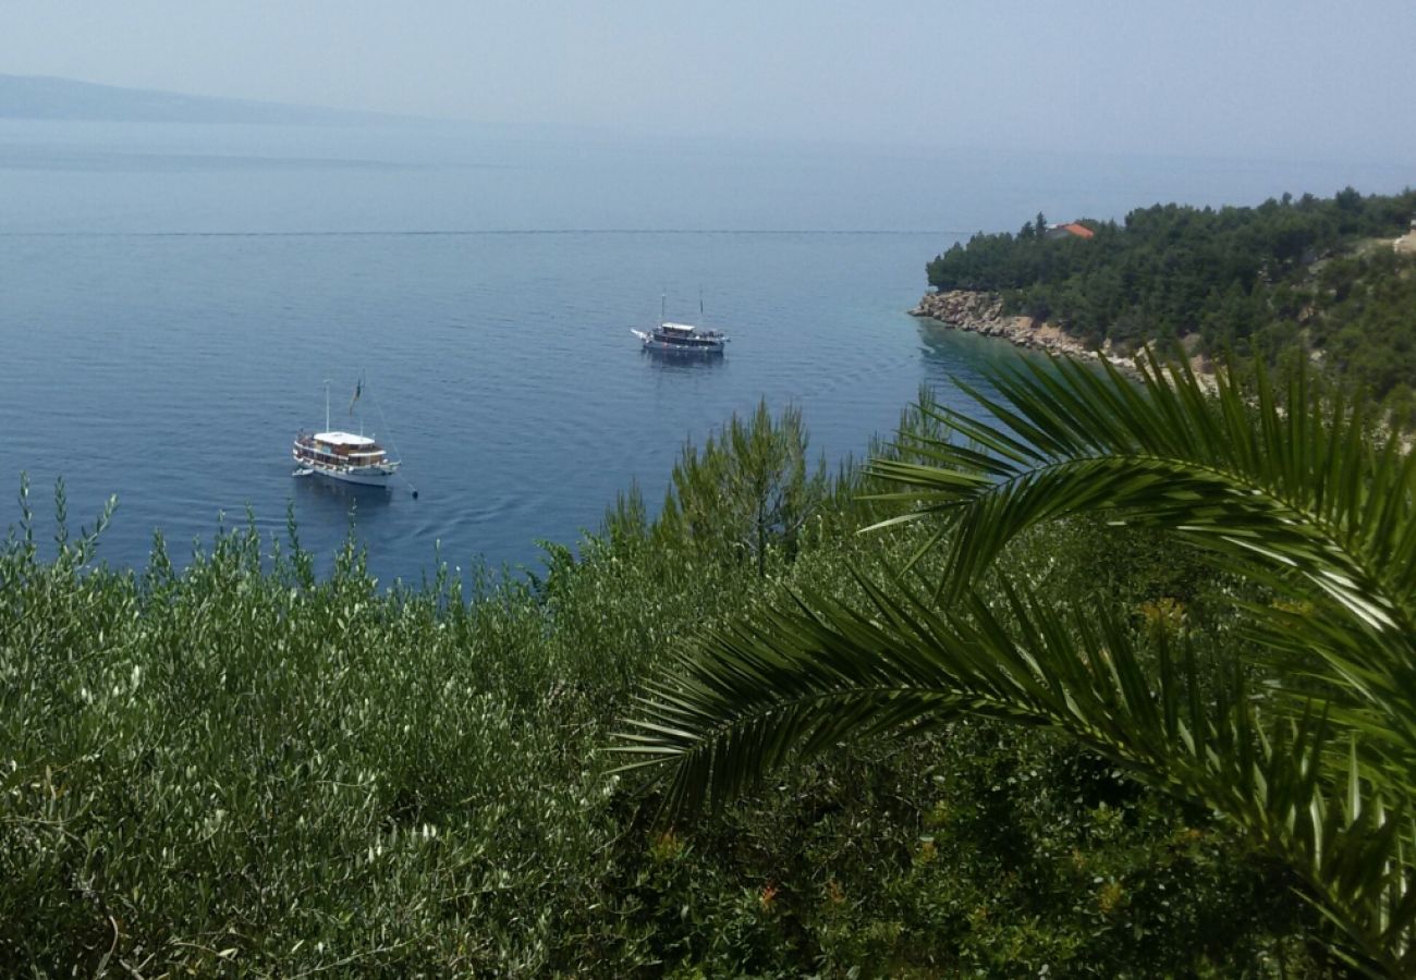
<path fill-rule="evenodd" d="M 939 432 L 929 409 L 895 457 Z M 653 823 L 598 751 L 640 678 L 745 609 L 860 596 L 852 564 L 915 554 L 927 523 L 854 534 L 885 513 L 860 489 L 827 480 L 766 578 L 630 489 L 535 576 L 443 566 L 392 592 L 353 545 L 317 579 L 293 523 L 109 571 L 62 496 L 41 561 L 25 501 L 0 552 L 0 974 L 1320 972 L 1281 871 L 1041 732 L 833 749 Z M 1137 609 L 1177 595 L 1204 619 L 1219 579 L 1164 548 L 1076 521 L 1008 554 L 1051 562 L 1058 596 L 1104 554 Z"/>

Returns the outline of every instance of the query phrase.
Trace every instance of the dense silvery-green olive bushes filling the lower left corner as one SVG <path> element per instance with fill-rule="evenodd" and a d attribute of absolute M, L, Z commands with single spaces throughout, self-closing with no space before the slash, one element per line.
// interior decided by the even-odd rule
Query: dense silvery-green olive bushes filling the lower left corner
<path fill-rule="evenodd" d="M 23 609 L 0 623 L 6 973 L 561 955 L 606 785 L 515 589 L 381 598 L 353 549 L 302 588 L 249 530 L 146 586 L 3 566 Z"/>

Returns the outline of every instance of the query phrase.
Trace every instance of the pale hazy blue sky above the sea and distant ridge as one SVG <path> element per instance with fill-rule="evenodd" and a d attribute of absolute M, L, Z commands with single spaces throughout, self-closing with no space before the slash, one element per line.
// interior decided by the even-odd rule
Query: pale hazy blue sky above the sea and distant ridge
<path fill-rule="evenodd" d="M 0 72 L 666 136 L 1416 164 L 1416 0 L 0 0 Z"/>

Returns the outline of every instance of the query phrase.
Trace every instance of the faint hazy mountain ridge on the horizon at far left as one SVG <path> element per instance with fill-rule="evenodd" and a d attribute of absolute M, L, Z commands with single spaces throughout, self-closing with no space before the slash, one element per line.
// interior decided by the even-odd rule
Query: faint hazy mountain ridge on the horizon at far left
<path fill-rule="evenodd" d="M 42 75 L 0 75 L 0 119 L 338 126 L 408 116 L 181 95 Z"/>

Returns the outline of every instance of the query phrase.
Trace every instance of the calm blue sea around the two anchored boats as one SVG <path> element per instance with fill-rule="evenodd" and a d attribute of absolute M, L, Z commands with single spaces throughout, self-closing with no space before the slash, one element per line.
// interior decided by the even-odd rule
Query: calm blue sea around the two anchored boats
<path fill-rule="evenodd" d="M 0 120 L 0 528 L 27 477 L 41 540 L 118 507 L 96 561 L 177 564 L 222 528 L 381 583 L 537 571 L 617 494 L 657 510 L 735 412 L 803 412 L 860 459 L 927 385 L 1021 357 L 908 316 L 977 231 L 1257 204 L 1409 167 L 762 143 L 456 123 Z M 728 333 L 661 360 L 661 316 Z M 355 388 L 360 397 L 355 399 Z M 326 415 L 329 412 L 329 415 Z M 292 476 L 300 429 L 364 432 L 388 490 Z M 416 491 L 416 493 L 415 493 Z M 47 545 L 52 552 L 52 544 Z"/>

